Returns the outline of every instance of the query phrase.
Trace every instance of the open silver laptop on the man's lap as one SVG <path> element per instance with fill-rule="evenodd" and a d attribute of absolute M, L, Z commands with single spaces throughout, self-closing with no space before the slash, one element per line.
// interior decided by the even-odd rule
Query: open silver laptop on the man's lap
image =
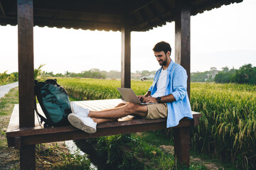
<path fill-rule="evenodd" d="M 124 98 L 124 101 L 132 102 L 132 103 L 139 103 L 141 105 L 156 104 L 156 103 L 142 103 L 141 101 L 139 101 L 139 98 L 136 96 L 136 94 L 134 93 L 134 91 L 132 89 L 117 88 L 117 90 Z"/>

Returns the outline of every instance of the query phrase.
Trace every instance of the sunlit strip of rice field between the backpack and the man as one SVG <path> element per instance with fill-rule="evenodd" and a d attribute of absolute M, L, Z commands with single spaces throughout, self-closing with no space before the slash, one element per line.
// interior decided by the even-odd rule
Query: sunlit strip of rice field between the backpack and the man
<path fill-rule="evenodd" d="M 132 80 L 132 89 L 137 95 L 145 94 L 151 83 Z M 70 97 L 79 101 L 121 98 L 117 91 L 117 87 L 121 86 L 120 80 L 65 78 L 58 79 L 58 84 L 65 87 Z"/>

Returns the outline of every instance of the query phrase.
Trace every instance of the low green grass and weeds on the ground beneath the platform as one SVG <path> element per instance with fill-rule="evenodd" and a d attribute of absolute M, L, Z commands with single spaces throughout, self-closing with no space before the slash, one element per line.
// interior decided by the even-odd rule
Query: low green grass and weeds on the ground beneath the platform
<path fill-rule="evenodd" d="M 175 164 L 174 149 L 168 149 L 174 148 L 172 142 L 155 132 L 98 137 L 89 141 L 97 143 L 99 157 L 105 155 L 112 169 L 183 169 Z M 193 162 L 190 169 L 204 170 L 206 166 Z"/>

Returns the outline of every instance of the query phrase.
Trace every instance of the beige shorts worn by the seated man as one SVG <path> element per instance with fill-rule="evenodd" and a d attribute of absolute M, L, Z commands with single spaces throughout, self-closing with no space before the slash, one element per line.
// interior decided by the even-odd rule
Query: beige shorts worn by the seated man
<path fill-rule="evenodd" d="M 157 103 L 147 105 L 148 114 L 146 115 L 146 119 L 157 119 L 157 118 L 166 118 L 168 109 L 166 103 Z"/>

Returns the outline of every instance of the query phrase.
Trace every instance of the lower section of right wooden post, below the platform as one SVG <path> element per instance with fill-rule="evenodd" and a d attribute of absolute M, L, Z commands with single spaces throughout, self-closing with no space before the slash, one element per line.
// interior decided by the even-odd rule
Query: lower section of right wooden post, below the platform
<path fill-rule="evenodd" d="M 174 154 L 178 161 L 178 169 L 189 167 L 189 134 L 189 127 L 174 129 Z"/>

